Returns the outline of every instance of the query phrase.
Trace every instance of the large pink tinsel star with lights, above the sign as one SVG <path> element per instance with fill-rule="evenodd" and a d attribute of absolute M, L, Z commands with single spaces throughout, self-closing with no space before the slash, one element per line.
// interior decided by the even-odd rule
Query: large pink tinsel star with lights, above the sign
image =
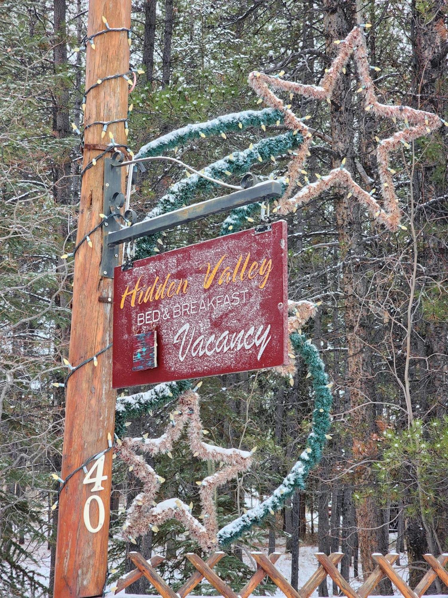
<path fill-rule="evenodd" d="M 290 186 L 280 200 L 275 211 L 279 213 L 289 213 L 291 210 L 296 210 L 297 206 L 308 203 L 314 197 L 317 197 L 323 191 L 329 190 L 331 187 L 338 185 L 348 190 L 348 196 L 354 196 L 361 204 L 366 206 L 374 218 L 385 225 L 389 230 L 396 230 L 401 227 L 406 230 L 406 227 L 400 224 L 401 210 L 398 206 L 398 198 L 395 194 L 395 188 L 392 181 L 392 175 L 395 170 L 389 166 L 389 154 L 404 145 L 409 148 L 410 142 L 415 139 L 428 135 L 438 129 L 442 124 L 448 126 L 448 122 L 441 119 L 437 114 L 432 112 L 425 112 L 410 108 L 409 106 L 389 106 L 378 102 L 375 94 L 375 84 L 369 74 L 369 63 L 367 62 L 367 48 L 364 38 L 364 28 L 369 28 L 370 25 L 356 26 L 346 36 L 345 39 L 337 40 L 335 43 L 340 45 L 340 51 L 329 69 L 326 69 L 326 74 L 321 79 L 318 86 L 304 85 L 302 83 L 293 83 L 292 81 L 283 81 L 279 76 L 272 77 L 260 72 L 251 72 L 248 77 L 248 83 L 253 90 L 260 96 L 260 99 L 272 108 L 276 108 L 283 112 L 284 123 L 293 130 L 294 133 L 300 132 L 303 135 L 303 144 L 297 150 L 295 157 L 291 160 L 289 165 L 289 180 Z M 375 189 L 367 193 L 360 187 L 353 179 L 348 170 L 345 169 L 345 158 L 339 168 L 330 170 L 326 176 L 317 176 L 317 181 L 309 183 L 306 175 L 306 170 L 303 169 L 306 157 L 309 154 L 309 145 L 312 141 L 312 133 L 305 124 L 309 116 L 305 118 L 298 118 L 294 112 L 290 110 L 290 105 L 285 106 L 284 102 L 277 97 L 269 86 L 281 91 L 289 91 L 292 98 L 293 93 L 298 93 L 302 96 L 309 97 L 315 100 L 326 100 L 331 103 L 331 96 L 335 89 L 336 81 L 340 74 L 345 74 L 345 66 L 353 54 L 355 65 L 357 66 L 358 76 L 360 78 L 360 87 L 357 93 L 364 94 L 364 108 L 367 112 L 372 112 L 385 118 L 392 118 L 394 122 L 397 120 L 403 121 L 405 125 L 404 130 L 400 130 L 387 139 L 379 139 L 378 148 L 376 150 L 376 157 L 378 160 L 379 179 L 381 181 L 381 196 L 383 198 L 383 208 L 379 205 L 373 197 Z M 375 68 L 375 67 L 374 67 Z M 378 70 L 378 67 L 376 67 Z M 283 72 L 281 75 L 283 76 Z M 294 183 L 302 187 L 299 182 L 300 174 L 305 175 L 306 186 L 303 187 L 293 197 Z"/>

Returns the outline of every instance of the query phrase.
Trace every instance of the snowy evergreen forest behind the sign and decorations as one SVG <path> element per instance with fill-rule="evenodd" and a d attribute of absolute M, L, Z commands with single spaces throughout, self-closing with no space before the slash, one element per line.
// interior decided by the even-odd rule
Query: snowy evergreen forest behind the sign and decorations
<path fill-rule="evenodd" d="M 57 483 L 50 474 L 60 471 L 65 400 L 64 390 L 51 384 L 63 380 L 70 334 L 72 264 L 60 255 L 76 234 L 81 149 L 73 129 L 82 129 L 85 54 L 75 48 L 85 35 L 87 8 L 85 0 L 0 4 L 2 596 L 51 595 Z M 442 0 L 367 0 L 358 7 L 338 0 L 134 0 L 131 63 L 145 74 L 130 94 L 130 147 L 136 152 L 188 123 L 262 108 L 247 85 L 254 69 L 318 83 L 337 51 L 333 42 L 356 24 L 357 10 L 372 23 L 367 50 L 370 64 L 381 68 L 373 71 L 380 101 L 448 118 Z M 326 173 L 346 157 L 357 181 L 372 190 L 375 136 L 388 136 L 395 125 L 367 114 L 357 87 L 350 62 L 330 106 L 300 96 L 290 103 L 297 114 L 312 115 L 318 132 L 308 171 Z M 252 127 L 167 154 L 200 169 L 283 131 L 283 125 Z M 327 554 L 342 550 L 345 578 L 372 570 L 372 552 L 396 549 L 410 563 L 412 587 L 426 566 L 422 555 L 448 551 L 447 151 L 442 127 L 394 155 L 406 231 L 386 231 L 336 190 L 287 216 L 289 298 L 322 301 L 304 331 L 335 383 L 332 440 L 306 492 L 297 492 L 220 563 L 220 575 L 234 587 L 247 578 L 242 555 L 254 546 L 272 551 L 286 542 L 293 585 L 301 542 Z M 276 155 L 275 163 L 254 171 L 283 175 L 289 159 Z M 139 174 L 132 207 L 146 215 L 183 176 L 176 166 L 151 163 Z M 170 231 L 162 251 L 217 236 L 222 219 Z M 217 497 L 225 523 L 269 495 L 289 471 L 309 432 L 312 393 L 299 367 L 294 386 L 269 372 L 205 379 L 201 401 L 212 441 L 258 449 L 251 471 Z M 159 435 L 167 416 L 166 408 L 140 414 L 127 433 Z M 164 492 L 176 489 L 188 503 L 197 498 L 195 480 L 204 472 L 186 444 L 173 457 L 157 458 L 168 480 Z M 110 551 L 118 576 L 128 567 L 128 547 L 117 530 L 139 485 L 118 460 L 113 480 Z M 49 588 L 33 573 L 42 548 L 51 553 Z M 196 547 L 170 522 L 137 539 L 137 550 L 146 558 L 151 551 L 170 557 L 161 570 L 175 586 L 188 574 L 185 553 Z M 131 590 L 154 591 L 145 579 Z M 320 596 L 329 591 L 321 584 Z M 383 581 L 378 591 L 392 587 Z"/>

